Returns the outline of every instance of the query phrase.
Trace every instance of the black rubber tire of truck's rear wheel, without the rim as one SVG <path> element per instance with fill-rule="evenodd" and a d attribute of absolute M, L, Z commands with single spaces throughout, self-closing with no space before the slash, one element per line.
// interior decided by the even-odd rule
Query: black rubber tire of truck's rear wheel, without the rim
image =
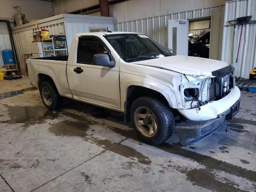
<path fill-rule="evenodd" d="M 44 88 L 47 88 L 50 92 L 50 96 L 51 96 L 50 104 L 47 104 L 43 99 L 42 90 Z M 40 91 L 40 96 L 41 96 L 42 102 L 44 103 L 44 106 L 49 110 L 56 110 L 62 106 L 62 102 L 63 102 L 62 96 L 60 96 L 60 94 L 58 93 L 58 90 L 53 82 L 50 82 L 50 81 L 42 82 L 42 84 L 39 87 L 39 91 Z"/>

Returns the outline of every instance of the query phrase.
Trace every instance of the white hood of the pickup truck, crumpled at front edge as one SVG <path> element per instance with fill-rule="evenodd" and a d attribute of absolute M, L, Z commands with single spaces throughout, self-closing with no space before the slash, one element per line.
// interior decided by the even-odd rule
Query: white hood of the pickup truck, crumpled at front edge
<path fill-rule="evenodd" d="M 185 75 L 209 77 L 212 76 L 212 72 L 229 66 L 227 62 L 223 61 L 182 55 L 149 59 L 132 63 L 171 70 Z"/>

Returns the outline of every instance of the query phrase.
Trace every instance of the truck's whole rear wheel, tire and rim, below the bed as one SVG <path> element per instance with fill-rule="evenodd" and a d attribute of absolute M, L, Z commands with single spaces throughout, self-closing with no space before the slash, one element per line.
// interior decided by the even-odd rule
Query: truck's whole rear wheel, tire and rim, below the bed
<path fill-rule="evenodd" d="M 40 85 L 40 95 L 44 106 L 49 110 L 55 110 L 62 105 L 62 97 L 52 82 L 44 81 Z"/>

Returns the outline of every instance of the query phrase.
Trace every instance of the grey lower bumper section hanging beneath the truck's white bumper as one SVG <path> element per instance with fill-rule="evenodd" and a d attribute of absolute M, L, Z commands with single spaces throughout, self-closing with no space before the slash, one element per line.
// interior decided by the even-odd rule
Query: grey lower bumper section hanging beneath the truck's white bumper
<path fill-rule="evenodd" d="M 215 130 L 217 130 L 225 120 L 232 120 L 232 118 L 238 113 L 240 108 L 240 100 L 238 98 L 236 102 L 225 112 L 218 115 L 218 118 L 203 121 L 193 122 L 186 121 L 176 125 L 176 131 L 180 139 L 181 145 L 191 145 L 199 142 L 210 136 Z"/>

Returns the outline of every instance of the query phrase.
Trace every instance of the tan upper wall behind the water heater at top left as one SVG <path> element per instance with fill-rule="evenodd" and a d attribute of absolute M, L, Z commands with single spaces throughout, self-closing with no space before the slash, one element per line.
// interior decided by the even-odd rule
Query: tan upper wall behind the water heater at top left
<path fill-rule="evenodd" d="M 16 9 L 20 6 L 21 12 L 26 15 L 26 20 L 43 19 L 53 15 L 52 3 L 40 0 L 1 0 L 0 18 L 14 19 Z"/>

